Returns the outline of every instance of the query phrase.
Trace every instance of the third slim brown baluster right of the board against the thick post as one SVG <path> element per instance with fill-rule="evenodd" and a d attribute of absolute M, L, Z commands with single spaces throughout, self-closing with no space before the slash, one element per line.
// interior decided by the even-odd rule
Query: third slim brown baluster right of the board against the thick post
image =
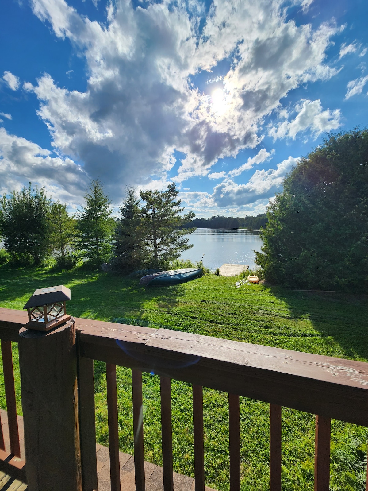
<path fill-rule="evenodd" d="M 174 491 L 171 379 L 160 377 L 163 491 Z"/>

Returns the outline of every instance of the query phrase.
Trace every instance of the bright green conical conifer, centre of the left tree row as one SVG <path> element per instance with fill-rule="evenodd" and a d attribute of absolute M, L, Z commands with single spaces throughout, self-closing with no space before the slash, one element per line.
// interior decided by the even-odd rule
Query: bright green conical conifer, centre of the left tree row
<path fill-rule="evenodd" d="M 111 218 L 111 201 L 104 193 L 104 186 L 99 179 L 91 181 L 84 201 L 85 205 L 78 213 L 78 248 L 88 266 L 98 269 L 109 259 L 115 226 L 115 221 Z"/>

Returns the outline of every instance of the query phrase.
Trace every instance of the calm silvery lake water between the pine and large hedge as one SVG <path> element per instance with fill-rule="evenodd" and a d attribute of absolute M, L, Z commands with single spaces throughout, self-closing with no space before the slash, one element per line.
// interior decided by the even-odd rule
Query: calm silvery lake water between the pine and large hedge
<path fill-rule="evenodd" d="M 215 270 L 224 263 L 249 264 L 255 267 L 254 250 L 260 251 L 262 239 L 257 232 L 237 228 L 197 228 L 189 235 L 191 249 L 183 252 L 182 259 L 200 261 L 204 253 L 203 264 Z"/>

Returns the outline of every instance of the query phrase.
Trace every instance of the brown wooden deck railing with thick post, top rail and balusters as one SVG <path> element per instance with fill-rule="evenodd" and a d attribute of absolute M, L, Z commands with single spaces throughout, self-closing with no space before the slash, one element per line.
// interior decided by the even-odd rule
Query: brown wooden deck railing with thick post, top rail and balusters
<path fill-rule="evenodd" d="M 52 489 L 97 490 L 93 360 L 106 362 L 112 491 L 124 489 L 120 483 L 116 365 L 131 368 L 132 373 L 137 491 L 145 490 L 142 372 L 160 376 L 164 491 L 173 491 L 171 379 L 193 387 L 195 491 L 205 487 L 204 386 L 229 393 L 231 491 L 240 490 L 239 396 L 270 404 L 271 491 L 281 490 L 282 406 L 316 414 L 315 491 L 329 490 L 331 418 L 368 426 L 368 363 L 90 319 L 76 319 L 75 326 L 69 323 L 46 334 L 25 329 L 18 334 L 25 322 L 21 314 L 0 309 L 0 338 L 19 342 L 30 491 L 48 489 L 47 483 L 55 477 L 52 466 L 66 458 L 73 462 L 67 469 L 65 463 L 63 469 L 57 464 L 64 472 L 59 487 Z M 3 359 L 8 358 L 5 354 Z M 10 394 L 10 388 L 7 392 Z M 36 455 L 40 452 L 42 457 Z"/>

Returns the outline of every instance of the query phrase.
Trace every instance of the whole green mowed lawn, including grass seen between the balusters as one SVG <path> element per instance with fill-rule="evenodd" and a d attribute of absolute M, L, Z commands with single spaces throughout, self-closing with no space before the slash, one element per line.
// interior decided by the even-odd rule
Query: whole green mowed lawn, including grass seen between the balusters
<path fill-rule="evenodd" d="M 145 290 L 137 280 L 82 270 L 0 267 L 0 306 L 23 308 L 36 288 L 64 284 L 72 290 L 68 312 L 77 317 L 166 327 L 237 341 L 368 361 L 367 297 L 287 291 L 269 285 L 235 288 L 236 278 L 208 275 Z M 14 346 L 16 390 L 19 367 Z M 118 368 L 120 449 L 132 453 L 131 372 Z M 145 459 L 162 464 L 158 377 L 144 374 Z M 95 362 L 98 441 L 108 445 L 105 366 Z M 206 484 L 229 489 L 228 397 L 204 389 Z M 0 406 L 6 408 L 3 384 Z M 191 387 L 172 381 L 175 471 L 193 476 Z M 242 490 L 268 490 L 269 407 L 241 398 Z M 314 415 L 283 408 L 283 490 L 313 490 Z M 331 490 L 365 490 L 367 428 L 332 421 Z"/>

